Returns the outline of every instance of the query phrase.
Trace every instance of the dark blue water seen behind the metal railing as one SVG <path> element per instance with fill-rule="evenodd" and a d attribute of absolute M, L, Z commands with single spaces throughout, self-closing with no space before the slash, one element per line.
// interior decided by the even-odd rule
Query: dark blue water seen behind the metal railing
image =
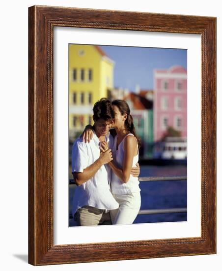
<path fill-rule="evenodd" d="M 187 167 L 182 166 L 140 166 L 140 177 L 186 176 Z M 186 181 L 140 182 L 140 209 L 187 207 Z M 71 212 L 74 186 L 70 186 L 69 208 Z M 70 226 L 74 226 L 70 219 Z M 134 223 L 187 221 L 186 213 L 138 215 Z"/>

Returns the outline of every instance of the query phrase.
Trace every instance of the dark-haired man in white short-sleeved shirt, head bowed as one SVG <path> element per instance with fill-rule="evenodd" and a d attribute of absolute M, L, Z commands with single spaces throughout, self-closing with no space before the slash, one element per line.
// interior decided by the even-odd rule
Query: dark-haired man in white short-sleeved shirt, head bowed
<path fill-rule="evenodd" d="M 117 209 L 109 180 L 111 169 L 105 167 L 112 160 L 111 149 L 100 152 L 100 142 L 111 146 L 110 128 L 114 114 L 111 102 L 102 98 L 93 107 L 93 137 L 85 143 L 78 138 L 72 149 L 72 173 L 77 188 L 73 199 L 73 215 L 78 226 L 110 225 L 109 210 Z"/>

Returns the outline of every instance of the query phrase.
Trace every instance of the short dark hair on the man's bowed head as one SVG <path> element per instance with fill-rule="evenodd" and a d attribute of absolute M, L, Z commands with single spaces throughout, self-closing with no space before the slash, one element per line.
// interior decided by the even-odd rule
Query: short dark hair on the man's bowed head
<path fill-rule="evenodd" d="M 107 98 L 102 98 L 96 102 L 93 106 L 93 119 L 98 121 L 103 119 L 105 121 L 112 121 L 114 118 L 114 112 L 112 110 L 111 101 Z"/>

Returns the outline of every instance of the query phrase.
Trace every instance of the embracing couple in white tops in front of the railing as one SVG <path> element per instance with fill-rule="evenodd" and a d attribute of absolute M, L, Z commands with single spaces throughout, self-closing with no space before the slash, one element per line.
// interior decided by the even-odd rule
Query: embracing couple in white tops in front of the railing
<path fill-rule="evenodd" d="M 140 141 L 130 108 L 102 98 L 94 104 L 93 120 L 72 149 L 74 219 L 78 226 L 132 224 L 141 199 Z"/>

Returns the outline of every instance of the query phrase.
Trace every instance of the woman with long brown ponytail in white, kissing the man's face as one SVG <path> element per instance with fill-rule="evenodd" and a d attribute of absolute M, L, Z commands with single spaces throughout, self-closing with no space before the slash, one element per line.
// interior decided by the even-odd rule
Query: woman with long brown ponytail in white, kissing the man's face
<path fill-rule="evenodd" d="M 109 163 L 109 166 L 112 169 L 111 193 L 119 203 L 119 208 L 110 210 L 111 220 L 112 224 L 132 224 L 141 204 L 138 177 L 135 177 L 131 171 L 139 160 L 140 141 L 136 135 L 127 102 L 114 100 L 112 109 L 114 111 L 112 127 L 116 135 L 111 147 L 113 161 Z M 87 135 L 83 134 L 83 137 L 90 138 L 90 130 L 86 131 Z M 108 143 L 100 142 L 100 149 L 102 152 L 108 150 Z"/>

